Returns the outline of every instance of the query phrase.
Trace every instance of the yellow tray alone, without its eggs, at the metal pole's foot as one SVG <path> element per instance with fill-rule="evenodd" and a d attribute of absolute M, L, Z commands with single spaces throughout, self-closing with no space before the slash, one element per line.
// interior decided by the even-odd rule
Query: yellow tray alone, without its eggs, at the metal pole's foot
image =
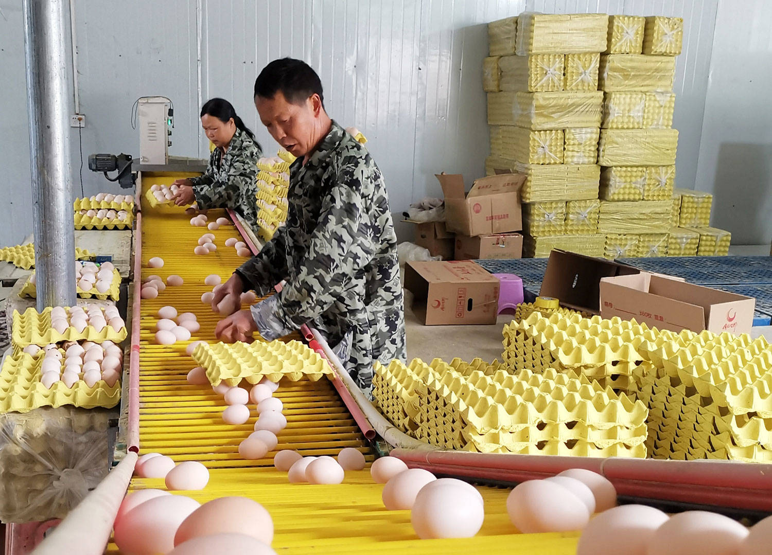
<path fill-rule="evenodd" d="M 105 326 L 103 330 L 97 331 L 93 326 L 79 332 L 74 327 L 68 327 L 64 333 L 59 333 L 51 327 L 51 307 L 47 307 L 42 313 L 34 308 L 28 308 L 24 313 L 18 310 L 13 311 L 13 324 L 11 330 L 11 340 L 14 345 L 27 347 L 28 345 L 48 345 L 49 343 L 59 343 L 59 341 L 80 341 L 89 340 L 94 343 L 102 343 L 104 340 L 120 343 L 126 339 L 126 327 L 119 331 L 113 330 L 112 326 Z M 65 307 L 69 311 L 69 307 Z M 108 320 L 107 318 L 105 320 Z"/>

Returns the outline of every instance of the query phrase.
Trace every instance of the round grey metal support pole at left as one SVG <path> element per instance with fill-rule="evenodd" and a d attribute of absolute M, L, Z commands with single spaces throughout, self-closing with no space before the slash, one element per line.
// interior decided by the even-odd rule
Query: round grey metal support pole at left
<path fill-rule="evenodd" d="M 73 306 L 75 223 L 69 166 L 69 3 L 23 0 L 37 308 Z"/>

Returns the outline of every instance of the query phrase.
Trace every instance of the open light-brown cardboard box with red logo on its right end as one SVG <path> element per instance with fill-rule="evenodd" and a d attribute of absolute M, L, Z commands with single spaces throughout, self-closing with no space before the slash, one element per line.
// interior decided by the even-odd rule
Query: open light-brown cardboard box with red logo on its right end
<path fill-rule="evenodd" d="M 601 279 L 601 316 L 665 330 L 750 333 L 756 299 L 641 272 Z"/>

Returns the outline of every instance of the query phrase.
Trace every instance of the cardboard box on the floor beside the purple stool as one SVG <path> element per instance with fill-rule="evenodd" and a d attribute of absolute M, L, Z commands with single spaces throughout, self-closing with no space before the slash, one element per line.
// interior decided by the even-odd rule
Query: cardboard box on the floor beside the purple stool
<path fill-rule="evenodd" d="M 405 289 L 426 326 L 496 323 L 499 279 L 476 262 L 408 262 Z"/>

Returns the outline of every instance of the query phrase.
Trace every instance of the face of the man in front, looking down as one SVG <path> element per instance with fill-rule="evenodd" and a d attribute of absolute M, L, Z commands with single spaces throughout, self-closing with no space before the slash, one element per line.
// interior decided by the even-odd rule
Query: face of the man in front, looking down
<path fill-rule="evenodd" d="M 316 145 L 322 103 L 317 94 L 303 103 L 288 102 L 279 91 L 273 98 L 255 97 L 255 107 L 271 137 L 296 157 L 303 157 Z"/>

